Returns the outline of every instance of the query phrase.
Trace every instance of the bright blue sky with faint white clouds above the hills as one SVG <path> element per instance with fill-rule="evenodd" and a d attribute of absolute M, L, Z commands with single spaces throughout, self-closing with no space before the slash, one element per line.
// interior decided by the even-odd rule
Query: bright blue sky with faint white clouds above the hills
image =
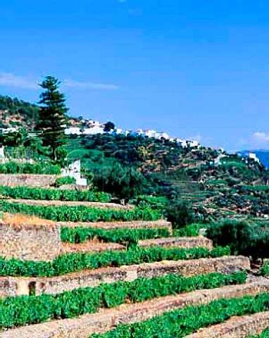
<path fill-rule="evenodd" d="M 269 149 L 269 1 L 1 0 L 0 94 L 65 81 L 70 115 Z"/>

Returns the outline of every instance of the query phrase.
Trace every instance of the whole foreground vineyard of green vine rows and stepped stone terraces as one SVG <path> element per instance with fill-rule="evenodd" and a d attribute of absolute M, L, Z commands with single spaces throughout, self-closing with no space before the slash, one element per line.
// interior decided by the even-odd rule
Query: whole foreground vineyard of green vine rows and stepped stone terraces
<path fill-rule="evenodd" d="M 20 199 L 1 200 L 0 338 L 268 337 L 266 263 L 158 210 L 16 189 L 0 188 Z"/>

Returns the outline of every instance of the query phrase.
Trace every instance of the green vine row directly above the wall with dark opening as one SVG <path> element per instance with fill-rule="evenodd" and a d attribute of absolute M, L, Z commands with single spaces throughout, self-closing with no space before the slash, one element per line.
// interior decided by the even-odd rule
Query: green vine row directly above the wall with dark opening
<path fill-rule="evenodd" d="M 181 259 L 215 258 L 230 255 L 228 247 L 216 247 L 213 250 L 165 249 L 154 247 L 141 249 L 131 247 L 127 251 L 104 251 L 102 253 L 70 253 L 58 256 L 52 262 L 18 261 L 17 259 L 0 258 L 1 276 L 52 277 L 92 270 L 108 266 L 133 265 L 159 261 L 178 261 Z"/>

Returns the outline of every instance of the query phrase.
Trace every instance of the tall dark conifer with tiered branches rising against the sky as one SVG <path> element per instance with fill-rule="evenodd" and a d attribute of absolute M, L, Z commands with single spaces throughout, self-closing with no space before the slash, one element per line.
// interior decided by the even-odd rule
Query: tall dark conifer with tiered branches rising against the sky
<path fill-rule="evenodd" d="M 44 146 L 51 146 L 52 157 L 56 159 L 56 149 L 65 144 L 64 128 L 67 123 L 65 96 L 58 91 L 61 82 L 53 76 L 45 77 L 39 84 L 44 89 L 40 94 L 39 122 L 37 130 Z"/>

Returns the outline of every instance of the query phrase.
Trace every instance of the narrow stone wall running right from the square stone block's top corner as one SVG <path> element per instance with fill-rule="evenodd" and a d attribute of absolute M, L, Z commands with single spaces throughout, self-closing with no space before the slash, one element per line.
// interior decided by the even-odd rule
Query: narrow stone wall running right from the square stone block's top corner
<path fill-rule="evenodd" d="M 172 223 L 166 220 L 132 220 L 131 222 L 58 222 L 61 227 L 91 227 L 94 229 L 168 229 L 172 234 Z"/>

